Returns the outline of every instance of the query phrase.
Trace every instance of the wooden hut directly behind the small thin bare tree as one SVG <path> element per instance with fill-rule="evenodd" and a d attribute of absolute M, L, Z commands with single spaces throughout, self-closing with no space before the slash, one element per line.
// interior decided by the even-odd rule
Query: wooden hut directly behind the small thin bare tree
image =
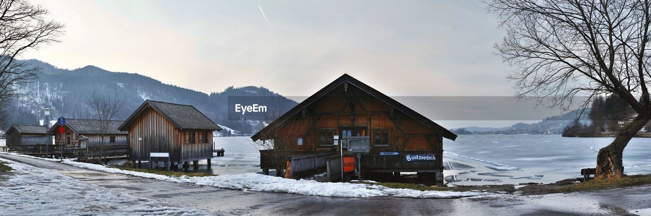
<path fill-rule="evenodd" d="M 48 130 L 57 149 L 52 152 L 61 151 L 62 146 L 65 157 L 127 157 L 128 132 L 119 131 L 120 125 L 118 120 L 68 118 L 63 126 L 54 124 Z"/>

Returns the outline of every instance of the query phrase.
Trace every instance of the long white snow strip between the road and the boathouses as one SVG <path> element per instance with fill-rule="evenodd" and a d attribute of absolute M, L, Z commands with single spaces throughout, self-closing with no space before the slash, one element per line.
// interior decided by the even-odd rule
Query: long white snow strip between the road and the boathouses
<path fill-rule="evenodd" d="M 12 153 L 2 153 L 12 154 Z M 20 154 L 12 154 L 20 155 Z M 33 157 L 21 155 L 23 157 Z M 45 159 L 40 157 L 34 157 Z M 58 161 L 57 159 L 46 159 Z M 456 192 L 456 191 L 418 191 L 413 189 L 392 189 L 381 185 L 367 185 L 364 183 L 344 183 L 344 182 L 316 182 L 314 180 L 294 180 L 280 178 L 275 176 L 266 176 L 255 173 L 229 174 L 221 176 L 203 176 L 203 177 L 173 177 L 145 172 L 135 172 L 130 170 L 120 170 L 104 165 L 91 163 L 81 163 L 64 159 L 62 163 L 81 167 L 85 169 L 101 170 L 104 172 L 129 174 L 144 178 L 153 178 L 156 180 L 188 183 L 194 185 L 222 187 L 228 189 L 237 189 L 243 191 L 262 191 L 277 193 L 294 193 L 298 195 L 314 196 L 339 196 L 339 197 L 374 197 L 374 196 L 398 196 L 411 198 L 458 198 L 468 196 L 494 195 L 485 192 Z"/>

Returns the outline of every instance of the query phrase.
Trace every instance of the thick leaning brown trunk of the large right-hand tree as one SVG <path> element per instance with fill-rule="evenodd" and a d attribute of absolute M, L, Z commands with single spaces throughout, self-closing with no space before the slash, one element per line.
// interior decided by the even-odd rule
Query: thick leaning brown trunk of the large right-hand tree
<path fill-rule="evenodd" d="M 624 174 L 624 164 L 622 163 L 624 148 L 648 121 L 647 115 L 638 115 L 631 124 L 619 131 L 615 141 L 599 150 L 595 175 L 597 180 L 622 177 Z"/>

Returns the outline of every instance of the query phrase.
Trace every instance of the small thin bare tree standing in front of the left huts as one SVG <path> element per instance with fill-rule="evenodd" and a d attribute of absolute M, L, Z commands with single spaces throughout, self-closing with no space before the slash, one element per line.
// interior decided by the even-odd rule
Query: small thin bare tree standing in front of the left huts
<path fill-rule="evenodd" d="M 100 133 L 100 145 L 94 146 L 94 149 L 99 151 L 99 156 L 104 161 L 104 164 L 107 163 L 107 131 L 111 127 L 111 120 L 115 118 L 115 115 L 122 109 L 124 102 L 126 101 L 126 94 L 120 94 L 117 87 L 114 88 L 113 92 L 108 94 L 100 94 L 97 90 L 93 90 L 92 96 L 89 101 L 89 108 L 91 113 L 91 119 L 94 120 L 98 132 Z"/>

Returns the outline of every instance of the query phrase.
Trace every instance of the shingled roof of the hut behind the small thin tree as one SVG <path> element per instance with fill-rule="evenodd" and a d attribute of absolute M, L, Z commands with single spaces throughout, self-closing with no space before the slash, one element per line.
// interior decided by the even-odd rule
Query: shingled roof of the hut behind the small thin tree
<path fill-rule="evenodd" d="M 108 128 L 104 134 L 128 134 L 127 131 L 120 131 L 118 128 L 122 125 L 123 121 L 110 120 Z M 100 127 L 100 120 L 94 119 L 80 119 L 80 118 L 66 118 L 66 126 L 72 129 L 77 134 L 101 134 L 102 128 Z M 48 133 L 53 133 L 59 129 L 59 124 L 54 124 L 49 129 Z"/>

